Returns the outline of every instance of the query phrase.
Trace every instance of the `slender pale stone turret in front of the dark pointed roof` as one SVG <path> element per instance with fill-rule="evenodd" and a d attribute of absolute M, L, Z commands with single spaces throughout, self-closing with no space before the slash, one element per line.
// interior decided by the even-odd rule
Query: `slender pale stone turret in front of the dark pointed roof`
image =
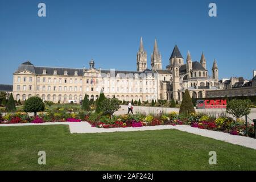
<path fill-rule="evenodd" d="M 179 59 L 174 56 L 174 66 L 172 67 L 172 95 L 174 100 L 179 101 L 179 93 L 178 90 L 180 89 L 180 69 L 179 69 Z"/>

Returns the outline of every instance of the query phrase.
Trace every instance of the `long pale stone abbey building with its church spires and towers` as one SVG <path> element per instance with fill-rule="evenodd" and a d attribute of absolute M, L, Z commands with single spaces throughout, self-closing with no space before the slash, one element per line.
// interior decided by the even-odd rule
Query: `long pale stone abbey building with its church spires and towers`
<path fill-rule="evenodd" d="M 38 67 L 26 61 L 14 73 L 14 99 L 24 101 L 31 96 L 39 96 L 44 101 L 79 102 L 85 94 L 89 99 L 96 100 L 103 90 L 106 97 L 115 96 L 126 101 L 140 99 L 151 102 L 172 98 L 181 101 L 185 89 L 189 90 L 193 98 L 203 98 L 207 91 L 221 88 L 216 60 L 210 75 L 203 53 L 200 62 L 193 61 L 189 52 L 184 60 L 175 46 L 164 68 L 155 40 L 150 59 L 149 69 L 141 38 L 137 71 L 97 69 L 94 60 L 89 61 L 87 68 Z"/>

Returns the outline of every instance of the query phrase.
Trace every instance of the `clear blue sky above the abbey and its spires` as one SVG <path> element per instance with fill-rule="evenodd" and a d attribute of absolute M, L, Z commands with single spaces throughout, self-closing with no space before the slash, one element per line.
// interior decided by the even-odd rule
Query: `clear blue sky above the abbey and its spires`
<path fill-rule="evenodd" d="M 46 4 L 46 17 L 38 4 Z M 209 3 L 217 5 L 210 17 Z M 157 39 L 163 68 L 175 44 L 184 59 L 201 52 L 219 78 L 251 79 L 256 69 L 255 0 L 0 0 L 0 84 L 13 84 L 19 64 L 136 70 L 142 36 L 147 67 Z"/>

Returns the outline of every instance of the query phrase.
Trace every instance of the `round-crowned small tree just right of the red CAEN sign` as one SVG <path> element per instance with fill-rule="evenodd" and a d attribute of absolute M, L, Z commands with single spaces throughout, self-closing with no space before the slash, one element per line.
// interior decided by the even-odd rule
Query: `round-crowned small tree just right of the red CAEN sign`
<path fill-rule="evenodd" d="M 250 100 L 231 100 L 226 106 L 226 112 L 234 117 L 241 118 L 243 115 L 250 114 Z"/>

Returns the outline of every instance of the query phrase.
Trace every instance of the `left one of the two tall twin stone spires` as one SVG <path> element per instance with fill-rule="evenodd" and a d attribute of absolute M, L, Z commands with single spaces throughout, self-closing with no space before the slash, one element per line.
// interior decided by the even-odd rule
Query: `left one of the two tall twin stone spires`
<path fill-rule="evenodd" d="M 143 72 L 145 69 L 147 69 L 147 52 L 144 51 L 141 38 L 141 44 L 139 45 L 139 51 L 137 53 L 137 71 Z"/>

